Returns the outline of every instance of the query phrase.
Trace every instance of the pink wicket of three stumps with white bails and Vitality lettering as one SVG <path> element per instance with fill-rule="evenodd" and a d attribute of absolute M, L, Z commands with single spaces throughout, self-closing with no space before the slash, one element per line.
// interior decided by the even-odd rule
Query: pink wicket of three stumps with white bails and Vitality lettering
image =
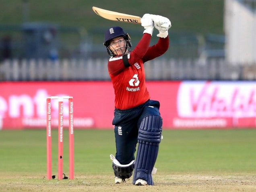
<path fill-rule="evenodd" d="M 47 180 L 52 179 L 52 99 L 58 99 L 58 180 L 63 175 L 63 100 L 68 99 L 68 132 L 69 132 L 69 179 L 74 179 L 74 129 L 73 129 L 73 97 L 52 96 L 46 98 L 46 153 L 47 153 Z"/>

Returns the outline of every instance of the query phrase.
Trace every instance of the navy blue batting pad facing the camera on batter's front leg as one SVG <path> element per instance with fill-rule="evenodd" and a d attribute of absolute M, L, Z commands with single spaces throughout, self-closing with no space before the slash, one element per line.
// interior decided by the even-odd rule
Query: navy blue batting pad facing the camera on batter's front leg
<path fill-rule="evenodd" d="M 133 184 L 136 180 L 142 179 L 148 185 L 154 185 L 152 171 L 161 142 L 162 124 L 163 121 L 160 116 L 147 116 L 140 123 Z"/>

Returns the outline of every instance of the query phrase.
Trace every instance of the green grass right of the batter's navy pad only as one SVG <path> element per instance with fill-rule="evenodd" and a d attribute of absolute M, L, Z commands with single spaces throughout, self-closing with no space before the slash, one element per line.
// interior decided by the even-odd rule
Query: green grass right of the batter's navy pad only
<path fill-rule="evenodd" d="M 166 131 L 156 166 L 167 172 L 254 172 L 255 134 L 256 130 Z"/>

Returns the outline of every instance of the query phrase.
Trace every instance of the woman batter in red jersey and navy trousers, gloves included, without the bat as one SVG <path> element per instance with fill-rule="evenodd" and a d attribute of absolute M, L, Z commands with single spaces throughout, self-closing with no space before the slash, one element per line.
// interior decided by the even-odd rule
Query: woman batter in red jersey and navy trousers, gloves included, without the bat
<path fill-rule="evenodd" d="M 141 25 L 145 30 L 134 50 L 131 50 L 130 36 L 121 27 L 109 28 L 103 43 L 110 56 L 108 71 L 115 93 L 112 124 L 116 156 L 111 155 L 111 159 L 116 184 L 126 182 L 134 171 L 132 184 L 154 185 L 152 170 L 161 142 L 163 121 L 159 112 L 160 103 L 150 99 L 144 63 L 168 50 L 171 22 L 166 17 L 144 14 Z M 150 46 L 154 27 L 159 31 L 159 40 Z"/>

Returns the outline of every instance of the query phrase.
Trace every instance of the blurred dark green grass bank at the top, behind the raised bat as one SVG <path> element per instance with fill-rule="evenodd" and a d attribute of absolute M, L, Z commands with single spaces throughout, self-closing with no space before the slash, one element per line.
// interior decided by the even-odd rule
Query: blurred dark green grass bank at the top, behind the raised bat
<path fill-rule="evenodd" d="M 0 0 L 1 24 L 21 24 L 24 19 L 23 0 Z M 168 17 L 171 31 L 195 33 L 223 33 L 223 0 L 33 0 L 27 1 L 27 21 L 47 21 L 64 26 L 83 27 L 92 31 L 100 27 L 118 25 L 97 16 L 92 6 L 133 14 L 142 17 L 145 13 Z M 119 23 L 120 24 L 120 23 Z M 138 29 L 138 25 L 122 24 L 127 29 Z M 98 31 L 100 34 L 101 30 Z M 94 31 L 95 33 L 95 31 Z M 102 34 L 101 34 L 102 35 Z"/>

